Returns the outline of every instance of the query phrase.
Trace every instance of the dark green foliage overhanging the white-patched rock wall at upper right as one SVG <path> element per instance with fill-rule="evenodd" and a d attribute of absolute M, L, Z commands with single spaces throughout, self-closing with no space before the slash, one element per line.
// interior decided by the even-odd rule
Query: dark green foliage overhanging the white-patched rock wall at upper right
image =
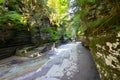
<path fill-rule="evenodd" d="M 116 1 L 75 0 L 80 8 L 73 18 L 75 26 L 83 27 L 86 35 L 103 35 L 120 31 L 120 3 Z M 104 9 L 100 10 L 99 7 Z M 77 21 L 78 20 L 78 21 Z M 79 32 L 79 30 L 78 30 Z"/>

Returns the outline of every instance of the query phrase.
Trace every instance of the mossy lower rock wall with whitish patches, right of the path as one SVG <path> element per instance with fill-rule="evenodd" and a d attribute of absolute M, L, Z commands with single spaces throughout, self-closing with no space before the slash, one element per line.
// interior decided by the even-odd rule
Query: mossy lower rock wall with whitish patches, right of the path
<path fill-rule="evenodd" d="M 93 38 L 90 49 L 96 62 L 101 80 L 120 79 L 120 36 L 119 33 Z"/>

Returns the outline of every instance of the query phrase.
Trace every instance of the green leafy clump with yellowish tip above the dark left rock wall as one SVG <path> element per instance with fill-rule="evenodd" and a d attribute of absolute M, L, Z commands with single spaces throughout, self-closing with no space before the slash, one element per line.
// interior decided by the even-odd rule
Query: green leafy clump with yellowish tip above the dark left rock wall
<path fill-rule="evenodd" d="M 19 26 L 24 25 L 26 25 L 26 19 L 23 15 L 15 11 L 8 11 L 5 14 L 0 15 L 0 26 L 2 28 L 10 27 L 10 29 L 19 29 Z"/>

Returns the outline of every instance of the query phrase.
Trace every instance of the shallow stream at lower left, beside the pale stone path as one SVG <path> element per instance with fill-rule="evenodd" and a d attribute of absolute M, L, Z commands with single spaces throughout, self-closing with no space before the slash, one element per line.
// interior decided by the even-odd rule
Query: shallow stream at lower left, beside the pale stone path
<path fill-rule="evenodd" d="M 50 55 L 46 54 L 33 59 L 18 56 L 3 59 L 0 61 L 0 80 L 9 80 L 12 77 L 38 69 L 49 59 L 49 57 Z"/>

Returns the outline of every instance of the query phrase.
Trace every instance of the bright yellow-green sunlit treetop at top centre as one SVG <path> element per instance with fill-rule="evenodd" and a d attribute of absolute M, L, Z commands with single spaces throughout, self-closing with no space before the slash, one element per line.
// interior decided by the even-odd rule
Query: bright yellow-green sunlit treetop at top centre
<path fill-rule="evenodd" d="M 68 9 L 69 0 L 48 0 L 47 6 L 51 9 L 50 19 L 60 23 L 65 17 Z"/>

